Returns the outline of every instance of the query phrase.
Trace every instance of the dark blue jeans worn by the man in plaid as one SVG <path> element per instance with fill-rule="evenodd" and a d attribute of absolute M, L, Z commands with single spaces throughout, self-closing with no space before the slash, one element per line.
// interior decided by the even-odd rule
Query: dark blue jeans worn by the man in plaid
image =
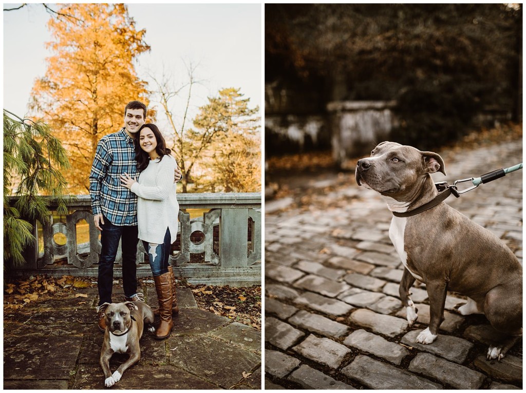
<path fill-rule="evenodd" d="M 99 255 L 98 292 L 99 302 L 112 303 L 113 264 L 117 256 L 119 240 L 122 239 L 120 250 L 123 253 L 123 286 L 124 295 L 133 296 L 137 293 L 137 225 L 114 225 L 106 216 L 100 233 L 102 250 Z"/>

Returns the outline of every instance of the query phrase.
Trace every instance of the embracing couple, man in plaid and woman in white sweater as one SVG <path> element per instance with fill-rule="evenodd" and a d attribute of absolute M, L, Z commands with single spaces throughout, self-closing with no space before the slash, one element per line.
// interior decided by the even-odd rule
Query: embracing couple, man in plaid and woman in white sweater
<path fill-rule="evenodd" d="M 89 174 L 89 193 L 102 243 L 98 305 L 112 303 L 119 240 L 125 301 L 144 301 L 144 295 L 137 292 L 136 265 L 137 243 L 143 241 L 159 302 L 155 337 L 162 339 L 171 332 L 172 314 L 178 313 L 169 256 L 177 237 L 176 182 L 181 174 L 157 126 L 145 123 L 146 112 L 142 102 L 128 102 L 124 127 L 100 139 Z M 104 312 L 99 311 L 97 317 L 99 329 L 106 330 Z"/>

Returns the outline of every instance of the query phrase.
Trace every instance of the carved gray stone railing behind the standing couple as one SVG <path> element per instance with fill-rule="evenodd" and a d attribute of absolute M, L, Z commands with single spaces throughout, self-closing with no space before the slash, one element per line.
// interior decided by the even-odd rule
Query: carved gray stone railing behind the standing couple
<path fill-rule="evenodd" d="M 178 194 L 179 231 L 172 245 L 170 264 L 176 276 L 191 283 L 232 286 L 261 283 L 261 194 L 259 193 L 200 193 Z M 11 197 L 11 202 L 16 201 Z M 50 210 L 56 205 L 50 201 Z M 14 275 L 48 274 L 52 276 L 97 276 L 101 245 L 99 230 L 93 222 L 89 195 L 77 195 L 68 205 L 63 220 L 42 225 L 34 222 L 37 239 L 24 251 L 26 263 L 10 266 Z M 190 219 L 187 210 L 204 210 L 202 216 Z M 77 225 L 85 220 L 89 226 L 89 242 L 78 243 Z M 86 226 L 86 224 L 84 224 Z M 38 226 L 42 227 L 38 241 Z M 55 235 L 65 235 L 59 244 Z M 114 277 L 122 276 L 122 256 L 114 266 Z M 137 252 L 137 276 L 151 276 L 142 242 Z"/>

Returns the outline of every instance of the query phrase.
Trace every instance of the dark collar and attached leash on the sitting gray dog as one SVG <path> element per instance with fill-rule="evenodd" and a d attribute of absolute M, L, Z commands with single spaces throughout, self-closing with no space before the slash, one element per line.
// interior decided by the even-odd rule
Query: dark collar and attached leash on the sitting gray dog
<path fill-rule="evenodd" d="M 392 213 L 393 213 L 393 215 L 395 215 L 397 217 L 410 217 L 412 215 L 416 215 L 416 214 L 422 213 L 422 212 L 424 212 L 426 210 L 434 208 L 434 206 L 436 206 L 439 203 L 441 203 L 442 201 L 446 200 L 446 198 L 448 198 L 448 196 L 451 195 L 451 194 L 456 196 L 456 198 L 460 198 L 461 194 L 476 189 L 477 187 L 479 187 L 480 184 L 485 184 L 485 183 L 489 183 L 490 181 L 500 179 L 500 178 L 504 177 L 506 174 L 508 174 L 510 172 L 517 171 L 519 169 L 522 169 L 522 162 L 520 164 L 514 165 L 513 167 L 510 167 L 510 168 L 505 168 L 505 169 L 501 168 L 501 169 L 498 169 L 496 171 L 484 173 L 479 178 L 467 178 L 467 179 L 456 180 L 451 185 L 448 184 L 446 181 L 441 181 L 441 182 L 434 183 L 435 187 L 437 187 L 437 190 L 440 192 L 440 194 L 438 194 L 436 196 L 436 198 L 434 198 L 430 202 L 425 203 L 425 204 L 419 206 L 418 208 L 410 210 L 408 212 L 403 212 L 403 213 L 392 212 Z M 457 187 L 457 184 L 458 183 L 465 183 L 465 182 L 468 182 L 468 181 L 470 181 L 473 185 L 471 187 L 465 189 L 465 190 L 459 191 L 458 187 Z"/>

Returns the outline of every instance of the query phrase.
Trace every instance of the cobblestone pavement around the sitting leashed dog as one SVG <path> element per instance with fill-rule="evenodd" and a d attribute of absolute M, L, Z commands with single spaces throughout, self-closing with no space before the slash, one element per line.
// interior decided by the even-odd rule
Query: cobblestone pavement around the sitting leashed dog
<path fill-rule="evenodd" d="M 522 143 L 440 152 L 447 177 L 479 177 L 522 162 Z M 448 204 L 499 236 L 522 263 L 522 171 Z M 309 180 L 307 208 L 294 195 L 265 204 L 266 389 L 519 389 L 522 340 L 500 362 L 485 358 L 494 332 L 483 315 L 457 312 L 448 293 L 437 340 L 414 343 L 429 322 L 425 287 L 412 289 L 418 320 L 408 327 L 398 298 L 403 266 L 390 243 L 391 213 L 373 191 Z M 340 179 L 341 183 L 341 179 Z M 288 209 L 282 208 L 288 206 Z"/>

